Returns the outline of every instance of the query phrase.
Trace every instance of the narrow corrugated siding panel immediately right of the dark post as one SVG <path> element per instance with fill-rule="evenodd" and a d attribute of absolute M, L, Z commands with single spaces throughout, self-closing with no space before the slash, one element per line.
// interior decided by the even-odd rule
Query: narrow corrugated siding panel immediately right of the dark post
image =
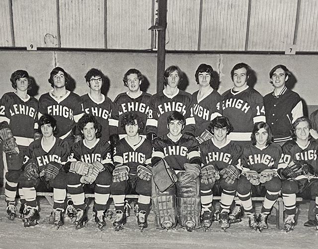
<path fill-rule="evenodd" d="M 200 0 L 168 0 L 166 49 L 197 50 Z"/>

